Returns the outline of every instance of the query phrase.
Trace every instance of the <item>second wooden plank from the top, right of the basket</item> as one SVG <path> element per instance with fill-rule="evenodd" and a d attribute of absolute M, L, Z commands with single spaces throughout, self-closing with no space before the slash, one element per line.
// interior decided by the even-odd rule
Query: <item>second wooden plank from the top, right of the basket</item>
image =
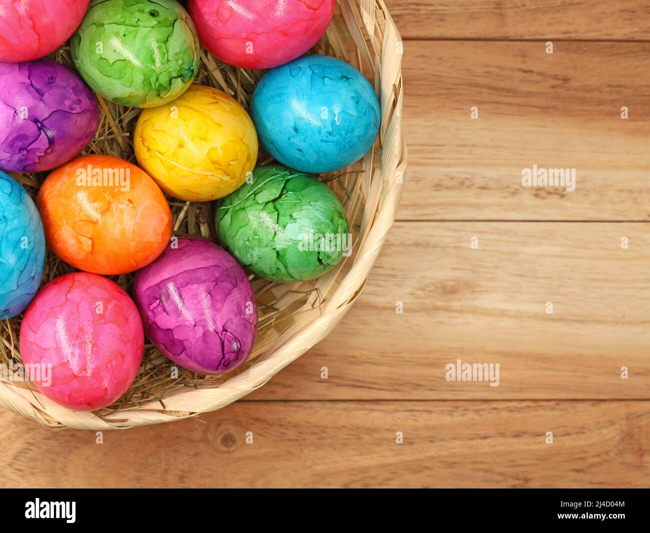
<path fill-rule="evenodd" d="M 649 55 L 650 43 L 547 55 L 532 42 L 407 42 L 398 218 L 650 220 Z M 575 168 L 575 190 L 523 187 L 534 164 Z"/>

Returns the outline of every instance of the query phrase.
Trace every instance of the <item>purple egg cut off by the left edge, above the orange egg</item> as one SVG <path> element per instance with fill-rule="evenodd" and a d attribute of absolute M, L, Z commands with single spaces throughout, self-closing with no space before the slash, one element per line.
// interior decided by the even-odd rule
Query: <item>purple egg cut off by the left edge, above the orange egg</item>
<path fill-rule="evenodd" d="M 0 62 L 0 168 L 43 172 L 70 161 L 95 136 L 97 99 L 49 59 Z"/>

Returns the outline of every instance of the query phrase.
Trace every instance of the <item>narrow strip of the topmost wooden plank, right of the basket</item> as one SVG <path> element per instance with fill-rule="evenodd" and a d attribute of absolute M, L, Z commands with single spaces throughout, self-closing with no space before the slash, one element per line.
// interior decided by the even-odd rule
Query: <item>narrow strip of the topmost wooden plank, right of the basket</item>
<path fill-rule="evenodd" d="M 645 0 L 385 0 L 403 38 L 649 40 Z"/>

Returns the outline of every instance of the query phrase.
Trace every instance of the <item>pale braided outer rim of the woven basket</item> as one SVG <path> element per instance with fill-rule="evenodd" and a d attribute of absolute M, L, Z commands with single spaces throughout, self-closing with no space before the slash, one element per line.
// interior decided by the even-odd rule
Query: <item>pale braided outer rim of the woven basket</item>
<path fill-rule="evenodd" d="M 279 370 L 319 343 L 343 318 L 365 287 L 370 270 L 382 249 L 400 201 L 407 149 L 402 130 L 402 38 L 383 0 L 337 0 L 357 47 L 359 60 L 374 70 L 376 90 L 382 107 L 381 149 L 363 159 L 372 173 L 372 190 L 365 191 L 366 209 L 372 198 L 374 211 L 364 213 L 366 231 L 356 260 L 337 289 L 320 307 L 320 314 L 286 339 L 278 339 L 271 350 L 246 370 L 214 388 L 188 389 L 134 408 L 98 417 L 91 411 L 75 411 L 56 404 L 38 391 L 0 381 L 0 406 L 45 426 L 87 430 L 130 428 L 181 420 L 207 413 L 235 402 L 265 385 Z M 380 155 L 380 163 L 374 155 Z M 380 184 L 380 185 L 376 185 Z"/>

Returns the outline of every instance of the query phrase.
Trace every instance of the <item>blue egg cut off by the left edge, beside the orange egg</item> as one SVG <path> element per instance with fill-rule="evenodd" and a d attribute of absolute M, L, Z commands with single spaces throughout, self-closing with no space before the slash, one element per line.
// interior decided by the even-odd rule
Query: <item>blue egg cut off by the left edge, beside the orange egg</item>
<path fill-rule="evenodd" d="M 25 310 L 45 266 L 45 235 L 36 205 L 0 170 L 0 320 Z"/>

